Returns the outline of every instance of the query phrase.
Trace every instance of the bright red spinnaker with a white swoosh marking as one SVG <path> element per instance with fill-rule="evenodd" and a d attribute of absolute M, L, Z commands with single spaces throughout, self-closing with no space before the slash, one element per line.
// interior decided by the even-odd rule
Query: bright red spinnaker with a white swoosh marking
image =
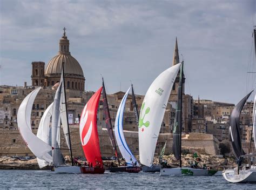
<path fill-rule="evenodd" d="M 93 94 L 85 105 L 81 114 L 79 133 L 84 155 L 93 166 L 102 165 L 102 156 L 99 148 L 99 136 L 97 130 L 97 110 L 102 87 Z"/>

